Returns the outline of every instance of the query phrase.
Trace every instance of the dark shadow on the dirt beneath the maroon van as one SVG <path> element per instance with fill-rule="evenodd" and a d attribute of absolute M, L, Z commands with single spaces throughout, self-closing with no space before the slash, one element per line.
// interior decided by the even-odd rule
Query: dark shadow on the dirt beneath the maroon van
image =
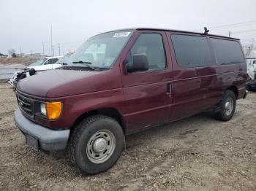
<path fill-rule="evenodd" d="M 133 152 L 129 152 L 132 149 L 141 149 L 142 147 L 158 145 L 157 141 L 165 141 L 169 139 L 186 139 L 188 134 L 197 133 L 197 131 L 203 130 L 208 122 L 214 121 L 215 120 L 212 112 L 203 112 L 192 117 L 178 120 L 176 122 L 165 123 L 154 128 L 149 128 L 126 136 L 126 148 L 124 149 L 124 152 L 126 152 L 125 155 L 133 155 Z M 74 163 L 72 163 L 71 160 L 67 160 L 67 151 L 50 152 L 48 153 L 48 156 L 53 160 L 58 160 L 57 163 L 59 163 L 59 165 L 68 165 L 74 177 L 81 176 L 80 171 L 75 168 Z M 104 174 L 108 175 L 110 172 L 106 171 L 102 174 L 102 176 Z"/>

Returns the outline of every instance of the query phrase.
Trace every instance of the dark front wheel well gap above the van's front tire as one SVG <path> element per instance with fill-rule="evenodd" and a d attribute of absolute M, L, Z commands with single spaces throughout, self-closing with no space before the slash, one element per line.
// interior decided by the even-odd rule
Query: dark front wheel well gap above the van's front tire
<path fill-rule="evenodd" d="M 85 119 L 86 117 L 90 117 L 92 115 L 96 115 L 96 114 L 102 114 L 108 117 L 112 117 L 113 119 L 115 119 L 119 125 L 121 125 L 121 128 L 124 130 L 124 134 L 125 134 L 125 122 L 123 117 L 121 116 L 121 114 L 114 108 L 103 108 L 103 109 L 95 109 L 95 110 L 91 110 L 89 112 L 85 112 L 83 114 L 80 115 L 80 117 L 78 117 L 77 120 L 75 120 L 74 125 L 72 126 L 72 128 L 75 128 L 75 126 L 83 119 Z"/>

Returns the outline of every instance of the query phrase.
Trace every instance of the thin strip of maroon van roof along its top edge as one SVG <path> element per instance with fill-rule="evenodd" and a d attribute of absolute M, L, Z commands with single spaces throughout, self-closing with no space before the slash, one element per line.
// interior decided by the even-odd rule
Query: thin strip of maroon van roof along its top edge
<path fill-rule="evenodd" d="M 122 28 L 118 30 L 113 30 L 113 31 L 127 31 L 127 30 L 137 30 L 137 31 L 143 31 L 143 30 L 154 30 L 154 31 L 172 31 L 172 32 L 180 32 L 180 33 L 187 33 L 187 34 L 201 34 L 201 35 L 206 35 L 206 36 L 215 36 L 215 37 L 221 37 L 225 39 L 235 39 L 235 40 L 240 40 L 236 39 L 233 37 L 228 37 L 228 36 L 221 36 L 221 35 L 216 35 L 216 34 L 203 34 L 200 32 L 194 32 L 194 31 L 181 31 L 181 30 L 176 30 L 176 29 L 166 29 L 166 28 Z M 110 32 L 113 32 L 110 31 Z M 203 31 L 203 30 L 202 30 Z"/>

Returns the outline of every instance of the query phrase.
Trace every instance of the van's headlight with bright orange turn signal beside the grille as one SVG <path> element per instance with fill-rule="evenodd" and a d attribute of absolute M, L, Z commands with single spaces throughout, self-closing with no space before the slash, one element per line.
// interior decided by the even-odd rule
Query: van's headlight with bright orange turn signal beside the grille
<path fill-rule="evenodd" d="M 49 120 L 56 120 L 61 115 L 62 104 L 59 101 L 41 104 L 41 113 Z"/>

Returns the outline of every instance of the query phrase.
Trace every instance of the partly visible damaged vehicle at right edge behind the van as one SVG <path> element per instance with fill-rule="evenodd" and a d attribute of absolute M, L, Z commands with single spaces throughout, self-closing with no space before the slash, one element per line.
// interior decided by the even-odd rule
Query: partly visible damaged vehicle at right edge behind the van
<path fill-rule="evenodd" d="M 256 91 L 256 58 L 246 58 L 248 79 L 246 89 Z"/>

